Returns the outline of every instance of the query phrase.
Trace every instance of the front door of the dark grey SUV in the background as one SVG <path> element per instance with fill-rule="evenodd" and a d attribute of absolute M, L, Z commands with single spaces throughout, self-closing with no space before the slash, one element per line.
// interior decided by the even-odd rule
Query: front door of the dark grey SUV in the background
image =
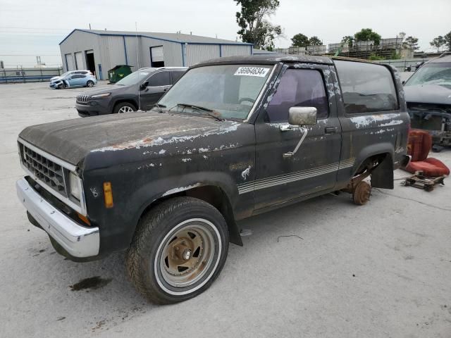
<path fill-rule="evenodd" d="M 144 81 L 146 87 L 140 89 L 141 109 L 149 111 L 152 106 L 171 88 L 171 75 L 168 70 L 152 74 Z"/>

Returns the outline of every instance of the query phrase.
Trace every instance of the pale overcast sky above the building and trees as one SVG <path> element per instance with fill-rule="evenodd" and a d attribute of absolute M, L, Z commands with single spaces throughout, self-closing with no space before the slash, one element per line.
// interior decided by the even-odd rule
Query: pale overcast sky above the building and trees
<path fill-rule="evenodd" d="M 74 28 L 177 32 L 235 40 L 238 26 L 233 0 L 0 0 L 0 60 L 6 67 L 61 65 L 59 42 Z M 284 38 L 276 47 L 290 46 L 290 38 L 316 35 L 323 44 L 338 43 L 345 35 L 372 28 L 383 38 L 399 32 L 419 38 L 421 50 L 451 31 L 451 0 L 280 0 L 271 22 L 281 25 Z"/>

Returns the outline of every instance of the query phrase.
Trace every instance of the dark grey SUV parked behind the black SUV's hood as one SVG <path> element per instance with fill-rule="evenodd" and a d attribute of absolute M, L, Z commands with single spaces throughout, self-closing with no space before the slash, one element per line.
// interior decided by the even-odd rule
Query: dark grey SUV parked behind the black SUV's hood
<path fill-rule="evenodd" d="M 182 77 L 187 68 L 141 68 L 109 87 L 77 96 L 75 108 L 81 117 L 150 110 Z"/>

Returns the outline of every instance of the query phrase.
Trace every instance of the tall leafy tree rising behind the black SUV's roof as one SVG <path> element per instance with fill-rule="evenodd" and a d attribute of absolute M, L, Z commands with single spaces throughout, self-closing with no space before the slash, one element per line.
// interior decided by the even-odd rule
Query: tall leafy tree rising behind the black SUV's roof
<path fill-rule="evenodd" d="M 268 21 L 269 16 L 276 12 L 278 0 L 235 0 L 241 5 L 241 11 L 236 13 L 240 26 L 238 35 L 243 42 L 254 44 L 255 48 L 272 50 L 274 39 L 282 36 L 282 27 Z"/>

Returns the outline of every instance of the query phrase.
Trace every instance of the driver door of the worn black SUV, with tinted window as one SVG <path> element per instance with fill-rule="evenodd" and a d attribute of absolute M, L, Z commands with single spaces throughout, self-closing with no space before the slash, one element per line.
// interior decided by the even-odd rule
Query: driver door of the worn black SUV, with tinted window
<path fill-rule="evenodd" d="M 335 96 L 330 97 L 325 85 L 334 88 L 328 65 L 300 63 L 281 73 L 278 87 L 269 94 L 270 103 L 260 111 L 255 123 L 255 213 L 333 189 L 337 180 L 341 127 Z M 317 123 L 305 128 L 307 135 L 299 149 L 287 156 L 304 134 L 299 126 L 288 124 L 288 111 L 293 106 L 316 108 Z"/>

